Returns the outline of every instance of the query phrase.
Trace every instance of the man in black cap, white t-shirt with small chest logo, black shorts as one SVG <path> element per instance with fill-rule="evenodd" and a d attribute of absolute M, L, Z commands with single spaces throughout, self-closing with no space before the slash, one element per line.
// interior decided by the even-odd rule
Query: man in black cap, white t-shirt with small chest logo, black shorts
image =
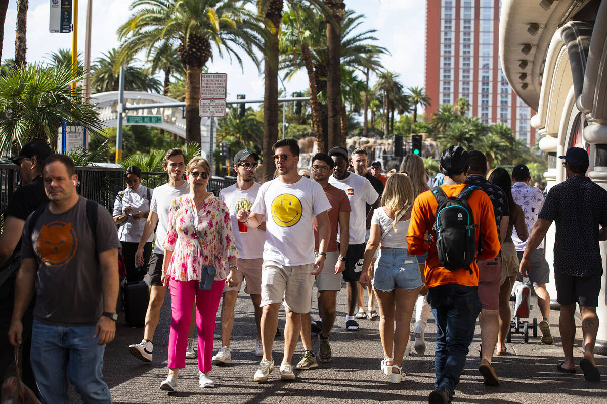
<path fill-rule="evenodd" d="M 345 256 L 345 271 L 342 272 L 346 283 L 348 297 L 348 313 L 345 316 L 345 326 L 349 331 L 358 329 L 358 323 L 354 320 L 354 310 L 358 302 L 359 285 L 361 277 L 362 258 L 365 254 L 365 235 L 367 228 L 371 225 L 373 211 L 381 206 L 381 198 L 373 185 L 362 176 L 350 173 L 348 168 L 348 150 L 338 146 L 329 150 L 329 156 L 335 162 L 333 175 L 329 178 L 329 184 L 344 190 L 350 200 L 350 234 L 348 236 L 348 252 Z M 369 213 L 365 217 L 365 203 L 371 205 Z M 337 234 L 337 241 L 340 240 Z"/>

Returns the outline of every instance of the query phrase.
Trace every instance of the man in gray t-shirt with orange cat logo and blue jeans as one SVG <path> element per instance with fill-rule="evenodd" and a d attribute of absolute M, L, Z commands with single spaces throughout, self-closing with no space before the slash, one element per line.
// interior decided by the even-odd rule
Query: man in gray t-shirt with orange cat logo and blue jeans
<path fill-rule="evenodd" d="M 42 178 L 50 202 L 23 227 L 8 339 L 21 345 L 21 317 L 35 290 L 31 361 L 42 403 L 67 400 L 66 376 L 84 402 L 111 403 L 101 363 L 118 318 L 120 242 L 114 220 L 76 193 L 78 176 L 69 157 L 48 157 Z"/>

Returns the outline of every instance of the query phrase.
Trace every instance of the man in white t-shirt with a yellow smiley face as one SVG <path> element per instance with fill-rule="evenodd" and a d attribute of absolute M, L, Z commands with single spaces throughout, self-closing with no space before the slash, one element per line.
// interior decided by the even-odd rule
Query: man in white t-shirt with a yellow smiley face
<path fill-rule="evenodd" d="M 256 382 L 266 382 L 274 369 L 272 345 L 283 297 L 287 324 L 280 379 L 295 379 L 291 357 L 299 338 L 302 314 L 310 311 L 314 275 L 324 266 L 330 234 L 328 210 L 331 204 L 319 184 L 297 173 L 297 141 L 282 139 L 272 150 L 279 176 L 262 185 L 251 211 L 243 208 L 237 214 L 239 222 L 249 229 L 259 227 L 266 217 L 261 302 L 263 358 L 254 376 Z M 314 217 L 320 240 L 316 259 Z"/>

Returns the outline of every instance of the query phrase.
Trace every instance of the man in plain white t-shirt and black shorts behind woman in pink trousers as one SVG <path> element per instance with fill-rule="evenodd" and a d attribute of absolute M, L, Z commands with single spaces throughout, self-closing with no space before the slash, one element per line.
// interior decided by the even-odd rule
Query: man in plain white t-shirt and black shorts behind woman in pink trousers
<path fill-rule="evenodd" d="M 154 349 L 152 339 L 154 339 L 156 326 L 158 320 L 160 320 L 160 308 L 164 303 L 164 295 L 167 290 L 167 286 L 164 286 L 161 280 L 162 261 L 164 259 L 164 250 L 161 246 L 164 243 L 166 227 L 169 223 L 169 206 L 176 197 L 189 193 L 188 182 L 183 179 L 183 172 L 186 168 L 186 156 L 183 151 L 172 148 L 164 154 L 162 162 L 164 170 L 169 174 L 169 182 L 154 188 L 148 220 L 143 227 L 141 241 L 135 253 L 135 263 L 143 265 L 143 248 L 158 224 L 154 251 L 152 251 L 152 257 L 149 260 L 148 274 L 144 277 L 150 288 L 150 300 L 143 328 L 143 340 L 140 343 L 129 345 L 129 352 L 143 362 L 152 362 L 152 351 Z M 192 322 L 190 336 L 194 331 L 194 325 L 195 322 Z M 191 356 L 193 351 L 191 339 L 188 339 L 188 351 Z"/>

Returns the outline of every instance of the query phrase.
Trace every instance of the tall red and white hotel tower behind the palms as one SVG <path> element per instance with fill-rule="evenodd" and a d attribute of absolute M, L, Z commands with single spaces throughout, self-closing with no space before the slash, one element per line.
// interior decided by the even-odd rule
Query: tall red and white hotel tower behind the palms
<path fill-rule="evenodd" d="M 535 114 L 512 91 L 498 52 L 500 0 L 427 0 L 426 94 L 438 111 L 458 98 L 486 124 L 503 122 L 524 144 L 535 144 Z M 525 74 L 525 73 L 521 73 Z"/>

